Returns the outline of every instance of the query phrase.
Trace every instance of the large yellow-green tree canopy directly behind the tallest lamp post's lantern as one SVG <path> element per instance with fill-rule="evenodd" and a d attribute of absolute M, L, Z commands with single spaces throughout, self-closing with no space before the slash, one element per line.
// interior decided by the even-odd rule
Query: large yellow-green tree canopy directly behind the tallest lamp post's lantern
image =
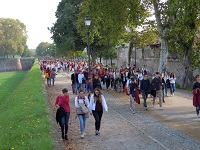
<path fill-rule="evenodd" d="M 90 25 L 92 58 L 98 51 L 96 45 L 121 44 L 121 39 L 126 38 L 125 27 L 128 26 L 135 30 L 137 25 L 142 24 L 148 16 L 140 0 L 86 0 L 79 8 L 77 28 L 85 42 L 87 41 L 87 29 L 84 25 L 84 18 L 88 15 L 92 19 Z"/>

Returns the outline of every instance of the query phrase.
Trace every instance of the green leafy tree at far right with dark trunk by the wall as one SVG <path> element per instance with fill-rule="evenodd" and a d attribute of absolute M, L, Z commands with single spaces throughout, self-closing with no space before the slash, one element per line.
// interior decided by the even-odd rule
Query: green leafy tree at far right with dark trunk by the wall
<path fill-rule="evenodd" d="M 181 87 L 188 84 L 188 76 L 191 67 L 199 66 L 200 54 L 197 41 L 197 31 L 200 26 L 199 0 L 168 0 L 166 14 L 170 16 L 168 21 L 168 41 L 171 52 L 176 52 L 183 59 L 183 82 Z"/>

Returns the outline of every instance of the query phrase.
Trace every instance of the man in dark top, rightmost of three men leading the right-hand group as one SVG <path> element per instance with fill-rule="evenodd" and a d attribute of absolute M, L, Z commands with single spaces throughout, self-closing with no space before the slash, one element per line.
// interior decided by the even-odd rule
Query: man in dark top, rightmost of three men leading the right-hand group
<path fill-rule="evenodd" d="M 156 97 L 158 96 L 160 110 L 163 110 L 163 108 L 162 108 L 162 101 L 161 101 L 162 81 L 160 79 L 159 72 L 155 73 L 155 78 L 153 78 L 153 80 L 151 81 L 151 85 L 153 86 L 153 90 L 152 90 L 153 105 L 152 105 L 152 107 L 154 108 L 155 100 L 156 100 Z"/>

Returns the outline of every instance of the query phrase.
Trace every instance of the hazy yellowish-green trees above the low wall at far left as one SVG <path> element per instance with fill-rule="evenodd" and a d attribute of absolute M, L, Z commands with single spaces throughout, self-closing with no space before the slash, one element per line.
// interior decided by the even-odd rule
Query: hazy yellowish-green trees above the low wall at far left
<path fill-rule="evenodd" d="M 0 18 L 0 56 L 33 55 L 26 45 L 26 26 L 18 19 Z"/>

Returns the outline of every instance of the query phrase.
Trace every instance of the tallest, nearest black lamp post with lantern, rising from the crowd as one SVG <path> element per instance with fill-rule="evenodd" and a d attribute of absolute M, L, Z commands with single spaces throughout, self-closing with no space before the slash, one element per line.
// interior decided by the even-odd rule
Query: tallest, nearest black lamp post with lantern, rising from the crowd
<path fill-rule="evenodd" d="M 91 24 L 91 19 L 88 17 L 88 16 L 86 16 L 86 18 L 85 18 L 85 25 L 87 26 L 87 35 L 88 35 L 88 47 L 87 47 L 87 52 L 88 52 L 88 77 L 90 76 L 90 71 L 91 71 L 91 69 L 90 69 L 90 38 L 89 38 L 89 35 L 90 35 L 90 31 L 89 31 L 89 29 L 88 29 L 88 27 L 90 26 L 90 24 Z"/>

